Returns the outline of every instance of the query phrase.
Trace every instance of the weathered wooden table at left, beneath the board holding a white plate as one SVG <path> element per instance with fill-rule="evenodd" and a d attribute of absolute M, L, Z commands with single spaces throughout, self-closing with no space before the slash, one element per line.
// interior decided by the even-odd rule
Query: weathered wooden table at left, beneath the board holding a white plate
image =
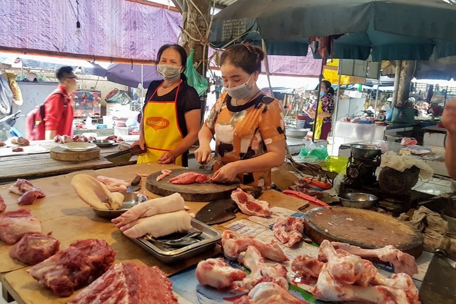
<path fill-rule="evenodd" d="M 37 145 L 51 149 L 60 145 L 53 140 L 31 141 L 30 145 Z M 102 169 L 115 167 L 104 157 L 119 152 L 119 147 L 101 148 L 100 158 L 88 161 L 60 161 L 52 159 L 49 151 L 40 154 L 14 155 L 0 157 L 0 184 L 13 182 L 17 178 L 35 179 L 60 174 L 67 174 L 85 169 Z M 138 157 L 132 157 L 123 165 L 135 164 Z"/>

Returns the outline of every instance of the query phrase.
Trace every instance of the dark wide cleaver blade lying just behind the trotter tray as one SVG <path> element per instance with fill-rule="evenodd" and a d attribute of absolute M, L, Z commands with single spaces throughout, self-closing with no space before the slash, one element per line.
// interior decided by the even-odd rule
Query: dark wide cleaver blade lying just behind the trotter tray
<path fill-rule="evenodd" d="M 237 205 L 232 199 L 215 200 L 207 203 L 204 207 L 202 207 L 201 210 L 196 213 L 195 218 L 207 224 L 208 222 L 211 222 L 215 219 L 220 220 L 220 217 L 223 219 L 230 216 L 230 219 L 235 218 L 235 211 L 237 211 Z M 220 222 L 221 221 L 212 222 L 212 224 Z"/>

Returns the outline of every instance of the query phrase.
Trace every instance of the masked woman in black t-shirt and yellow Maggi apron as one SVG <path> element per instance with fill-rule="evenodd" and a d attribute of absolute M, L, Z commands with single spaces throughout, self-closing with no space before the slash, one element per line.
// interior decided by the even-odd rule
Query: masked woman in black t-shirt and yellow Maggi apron
<path fill-rule="evenodd" d="M 157 54 L 162 81 L 150 83 L 140 123 L 139 145 L 146 153 L 138 163 L 175 163 L 187 166 L 188 148 L 198 139 L 201 102 L 183 71 L 187 62 L 180 45 L 164 45 Z"/>

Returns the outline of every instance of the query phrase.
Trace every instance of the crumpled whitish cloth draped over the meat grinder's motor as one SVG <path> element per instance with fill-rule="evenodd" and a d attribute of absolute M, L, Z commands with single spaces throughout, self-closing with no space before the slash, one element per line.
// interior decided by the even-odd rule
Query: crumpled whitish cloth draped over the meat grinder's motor
<path fill-rule="evenodd" d="M 399 172 L 404 172 L 405 169 L 409 169 L 412 166 L 416 166 L 420 169 L 420 180 L 430 179 L 432 175 L 434 175 L 434 170 L 423 160 L 413 156 L 398 155 L 394 151 L 387 151 L 384 153 L 380 163 L 381 168 L 389 167 Z"/>

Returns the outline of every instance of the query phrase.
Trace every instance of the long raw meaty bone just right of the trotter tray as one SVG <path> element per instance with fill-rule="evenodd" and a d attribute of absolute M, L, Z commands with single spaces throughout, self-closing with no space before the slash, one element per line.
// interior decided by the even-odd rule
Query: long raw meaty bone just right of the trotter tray
<path fill-rule="evenodd" d="M 269 244 L 262 243 L 252 237 L 243 236 L 231 230 L 222 233 L 222 247 L 225 257 L 229 260 L 236 260 L 241 252 L 247 250 L 248 246 L 256 247 L 261 256 L 276 261 L 288 261 L 288 257 L 274 241 Z"/>

